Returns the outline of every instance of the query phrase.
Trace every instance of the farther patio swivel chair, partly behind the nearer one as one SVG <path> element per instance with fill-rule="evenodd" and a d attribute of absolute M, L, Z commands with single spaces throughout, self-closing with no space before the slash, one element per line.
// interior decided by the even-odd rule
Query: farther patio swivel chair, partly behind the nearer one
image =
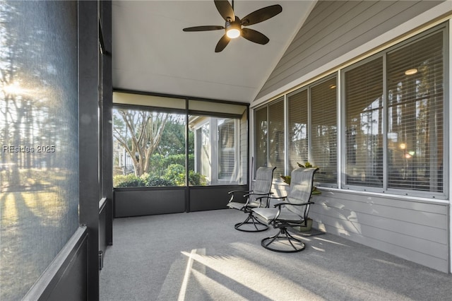
<path fill-rule="evenodd" d="M 273 182 L 273 171 L 276 167 L 259 167 L 256 171 L 256 181 L 249 191 L 230 191 L 231 199 L 227 206 L 229 208 L 243 211 L 248 216 L 242 223 L 237 223 L 234 228 L 244 232 L 261 232 L 268 229 L 268 225 L 261 223 L 253 216 L 253 208 L 268 207 L 268 196 L 271 192 Z M 246 197 L 246 203 L 234 201 L 234 195 L 241 194 Z M 237 197 L 236 197 L 237 199 Z"/>

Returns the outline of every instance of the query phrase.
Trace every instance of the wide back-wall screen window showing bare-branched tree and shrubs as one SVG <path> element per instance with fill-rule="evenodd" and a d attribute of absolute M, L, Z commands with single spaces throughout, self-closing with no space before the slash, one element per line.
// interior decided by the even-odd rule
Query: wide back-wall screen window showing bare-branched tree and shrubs
<path fill-rule="evenodd" d="M 116 107 L 112 115 L 114 187 L 186 184 L 185 114 Z"/>

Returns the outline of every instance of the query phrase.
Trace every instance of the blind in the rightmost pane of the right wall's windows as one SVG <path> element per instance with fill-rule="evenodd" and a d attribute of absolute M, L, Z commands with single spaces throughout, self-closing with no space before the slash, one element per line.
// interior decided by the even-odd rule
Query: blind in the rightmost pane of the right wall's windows
<path fill-rule="evenodd" d="M 443 32 L 387 55 L 388 187 L 442 191 Z"/>

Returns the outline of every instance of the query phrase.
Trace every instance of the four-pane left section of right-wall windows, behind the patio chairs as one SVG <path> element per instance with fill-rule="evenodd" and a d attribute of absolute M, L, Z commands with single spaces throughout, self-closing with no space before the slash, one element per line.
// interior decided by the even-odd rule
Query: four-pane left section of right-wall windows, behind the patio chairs
<path fill-rule="evenodd" d="M 328 76 L 287 95 L 287 170 L 285 160 L 285 106 L 284 97 L 256 110 L 256 157 L 276 166 L 275 179 L 311 163 L 320 168 L 316 174 L 319 186 L 338 187 L 338 118 L 337 79 Z M 266 140 L 268 110 L 268 141 Z M 268 145 L 269 154 L 266 158 Z M 264 161 L 265 162 L 265 161 Z M 260 165 L 262 166 L 262 165 Z"/>

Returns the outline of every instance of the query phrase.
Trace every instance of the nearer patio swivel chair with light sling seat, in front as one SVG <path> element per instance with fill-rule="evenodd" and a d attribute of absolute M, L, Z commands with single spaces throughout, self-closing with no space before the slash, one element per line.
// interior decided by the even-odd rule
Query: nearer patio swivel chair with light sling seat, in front
<path fill-rule="evenodd" d="M 287 196 L 270 197 L 269 202 L 280 200 L 275 208 L 254 208 L 254 216 L 267 225 L 273 225 L 278 233 L 261 240 L 262 247 L 275 252 L 293 253 L 304 250 L 304 243 L 293 237 L 287 228 L 307 226 L 310 201 L 317 167 L 297 168 L 292 171 Z"/>

